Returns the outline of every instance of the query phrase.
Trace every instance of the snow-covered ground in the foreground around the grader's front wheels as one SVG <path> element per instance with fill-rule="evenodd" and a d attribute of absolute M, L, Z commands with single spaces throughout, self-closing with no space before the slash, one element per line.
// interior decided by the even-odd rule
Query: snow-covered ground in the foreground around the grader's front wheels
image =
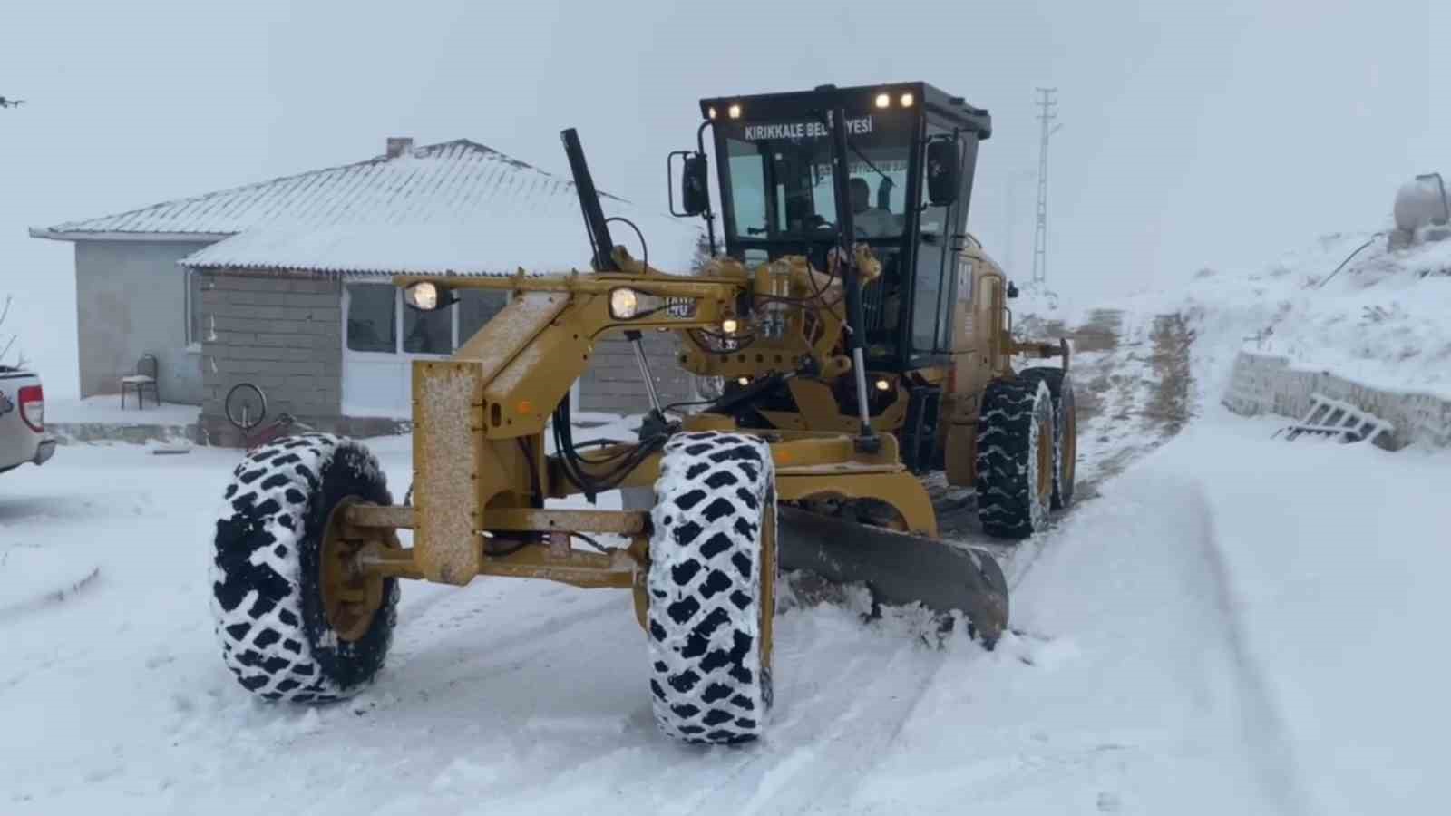
<path fill-rule="evenodd" d="M 68 449 L 0 498 L 0 547 L 102 568 L 0 619 L 0 812 L 1429 812 L 1451 459 L 1273 428 L 1210 412 L 1104 484 L 995 652 L 789 608 L 769 739 L 705 751 L 656 732 L 628 597 L 544 584 L 411 584 L 373 691 L 258 704 L 206 608 L 235 454 Z"/>

